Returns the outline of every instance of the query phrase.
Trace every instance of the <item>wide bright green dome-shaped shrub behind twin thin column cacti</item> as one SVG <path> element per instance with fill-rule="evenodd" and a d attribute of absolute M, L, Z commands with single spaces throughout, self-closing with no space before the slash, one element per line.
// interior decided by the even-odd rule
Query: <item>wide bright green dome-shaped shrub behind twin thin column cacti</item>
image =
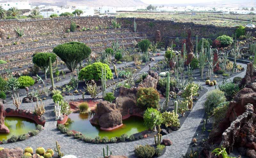
<path fill-rule="evenodd" d="M 102 62 L 94 62 L 93 64 L 82 68 L 78 78 L 79 80 L 85 79 L 86 81 L 94 80 L 97 82 L 101 78 L 101 68 L 103 68 L 103 72 L 106 68 L 106 79 L 111 79 L 113 77 L 111 69 L 107 64 Z"/>

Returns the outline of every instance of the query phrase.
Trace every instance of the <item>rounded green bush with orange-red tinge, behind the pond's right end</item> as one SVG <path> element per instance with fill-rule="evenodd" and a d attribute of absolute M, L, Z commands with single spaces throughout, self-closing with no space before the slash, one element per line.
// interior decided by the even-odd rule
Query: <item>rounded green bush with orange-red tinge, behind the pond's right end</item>
<path fill-rule="evenodd" d="M 159 93 L 154 88 L 140 88 L 137 92 L 137 105 L 142 109 L 158 108 Z"/>

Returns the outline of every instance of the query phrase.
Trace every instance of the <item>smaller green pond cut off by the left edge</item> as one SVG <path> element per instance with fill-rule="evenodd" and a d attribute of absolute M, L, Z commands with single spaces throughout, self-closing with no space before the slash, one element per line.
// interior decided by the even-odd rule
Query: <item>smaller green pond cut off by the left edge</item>
<path fill-rule="evenodd" d="M 20 134 L 26 134 L 29 131 L 36 129 L 36 123 L 30 119 L 23 117 L 6 116 L 4 118 L 4 124 L 10 130 L 10 133 L 0 133 L 0 140 L 7 140 L 12 135 L 19 136 Z"/>

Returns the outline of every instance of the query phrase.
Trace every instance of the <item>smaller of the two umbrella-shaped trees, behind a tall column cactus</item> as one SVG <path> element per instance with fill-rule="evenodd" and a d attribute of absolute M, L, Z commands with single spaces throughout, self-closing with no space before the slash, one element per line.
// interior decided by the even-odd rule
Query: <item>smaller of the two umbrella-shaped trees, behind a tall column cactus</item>
<path fill-rule="evenodd" d="M 45 78 L 49 68 L 49 57 L 51 57 L 52 63 L 54 63 L 57 56 L 53 53 L 36 53 L 32 60 L 44 72 Z"/>

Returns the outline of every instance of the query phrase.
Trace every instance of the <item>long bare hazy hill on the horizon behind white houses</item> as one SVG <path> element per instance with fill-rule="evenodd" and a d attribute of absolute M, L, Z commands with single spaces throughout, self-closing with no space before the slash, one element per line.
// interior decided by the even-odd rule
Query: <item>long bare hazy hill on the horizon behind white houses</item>
<path fill-rule="evenodd" d="M 29 0 L 32 5 L 57 5 L 57 6 L 113 6 L 113 7 L 133 7 L 147 5 L 140 0 Z"/>

